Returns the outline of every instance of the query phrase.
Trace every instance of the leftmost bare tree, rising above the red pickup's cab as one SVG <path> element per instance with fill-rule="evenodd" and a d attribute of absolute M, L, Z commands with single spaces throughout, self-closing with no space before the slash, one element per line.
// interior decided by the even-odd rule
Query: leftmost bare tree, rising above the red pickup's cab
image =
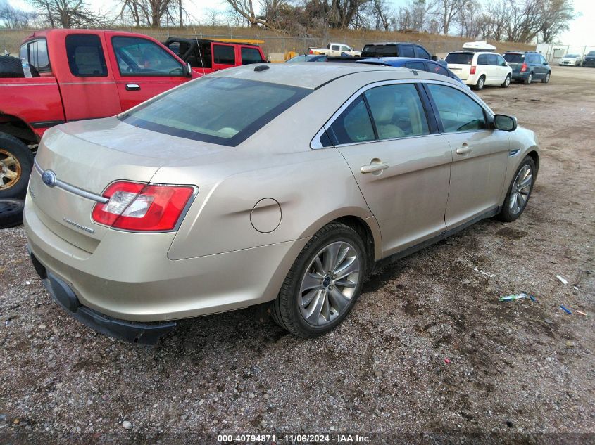
<path fill-rule="evenodd" d="M 39 17 L 51 27 L 89 27 L 104 25 L 104 20 L 93 13 L 84 0 L 29 0 Z"/>

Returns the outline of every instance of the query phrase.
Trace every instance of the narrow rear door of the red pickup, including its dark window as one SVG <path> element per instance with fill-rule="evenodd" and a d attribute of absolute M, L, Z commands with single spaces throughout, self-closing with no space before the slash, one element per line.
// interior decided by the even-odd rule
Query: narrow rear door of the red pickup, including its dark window
<path fill-rule="evenodd" d="M 106 63 L 105 42 L 97 34 L 81 32 L 65 36 L 68 69 L 60 76 L 67 121 L 118 114 L 120 99 L 113 73 Z"/>

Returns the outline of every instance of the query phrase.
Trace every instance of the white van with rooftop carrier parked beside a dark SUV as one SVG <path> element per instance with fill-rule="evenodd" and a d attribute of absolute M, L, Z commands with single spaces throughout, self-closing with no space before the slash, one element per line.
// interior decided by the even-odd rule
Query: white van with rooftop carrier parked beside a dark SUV
<path fill-rule="evenodd" d="M 513 70 L 500 54 L 453 51 L 446 55 L 445 60 L 449 70 L 472 89 L 483 89 L 484 85 L 507 88 L 511 84 Z"/>

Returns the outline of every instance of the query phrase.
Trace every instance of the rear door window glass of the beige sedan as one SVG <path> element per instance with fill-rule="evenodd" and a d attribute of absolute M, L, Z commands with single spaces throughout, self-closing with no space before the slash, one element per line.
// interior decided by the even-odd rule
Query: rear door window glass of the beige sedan
<path fill-rule="evenodd" d="M 377 86 L 364 93 L 379 139 L 428 134 L 418 90 L 413 84 Z"/>

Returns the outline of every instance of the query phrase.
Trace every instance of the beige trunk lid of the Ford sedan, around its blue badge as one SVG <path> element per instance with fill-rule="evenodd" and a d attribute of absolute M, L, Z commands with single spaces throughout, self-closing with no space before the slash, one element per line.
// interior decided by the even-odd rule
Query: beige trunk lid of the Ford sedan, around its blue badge
<path fill-rule="evenodd" d="M 51 231 L 92 253 L 109 230 L 92 220 L 93 195 L 101 197 L 118 180 L 150 182 L 163 165 L 184 165 L 220 150 L 225 148 L 139 129 L 115 117 L 72 122 L 46 131 L 35 157 L 30 197 Z M 47 170 L 75 190 L 47 186 L 42 180 Z"/>

